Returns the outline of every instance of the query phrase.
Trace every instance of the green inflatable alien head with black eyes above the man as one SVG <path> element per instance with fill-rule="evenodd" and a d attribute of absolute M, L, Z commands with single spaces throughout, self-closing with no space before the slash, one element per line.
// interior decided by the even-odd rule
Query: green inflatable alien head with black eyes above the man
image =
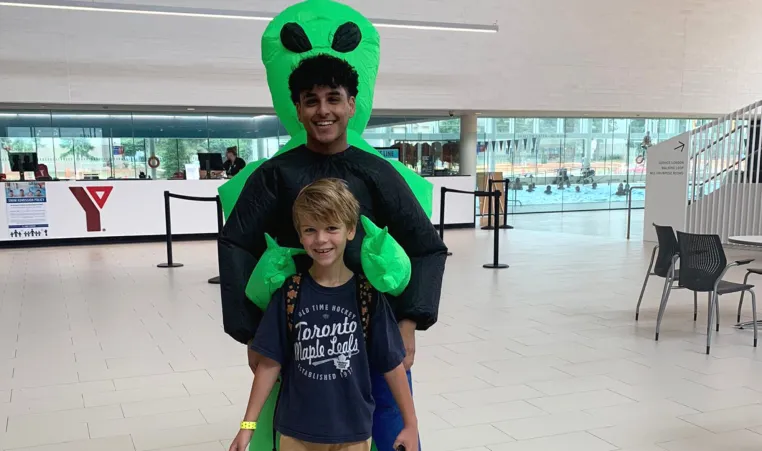
<path fill-rule="evenodd" d="M 349 129 L 362 134 L 373 109 L 380 38 L 359 12 L 333 0 L 306 0 L 275 17 L 262 35 L 262 61 L 275 112 L 292 136 L 304 134 L 291 101 L 288 79 L 303 59 L 319 54 L 341 58 L 357 71 L 356 113 Z"/>

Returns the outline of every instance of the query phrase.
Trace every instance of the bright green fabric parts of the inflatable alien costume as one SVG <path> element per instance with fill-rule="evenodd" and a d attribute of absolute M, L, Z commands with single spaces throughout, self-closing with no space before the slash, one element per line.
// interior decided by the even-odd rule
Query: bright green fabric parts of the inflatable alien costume
<path fill-rule="evenodd" d="M 331 44 L 337 30 L 339 30 L 341 25 L 347 22 L 353 22 L 359 27 L 362 33 L 362 41 L 356 49 L 347 53 L 342 53 L 333 50 Z M 312 45 L 312 50 L 297 54 L 289 51 L 283 46 L 280 39 L 280 33 L 283 26 L 287 23 L 298 24 L 304 30 Z M 267 72 L 267 84 L 272 95 L 273 106 L 275 107 L 278 118 L 291 136 L 288 143 L 286 143 L 276 155 L 288 152 L 307 142 L 306 132 L 297 118 L 296 107 L 291 102 L 291 93 L 288 89 L 288 79 L 291 75 L 291 71 L 305 58 L 318 54 L 328 54 L 347 61 L 355 68 L 355 70 L 357 70 L 360 77 L 359 93 L 356 99 L 356 113 L 354 118 L 350 121 L 349 129 L 347 130 L 349 144 L 374 154 L 378 156 L 378 158 L 383 158 L 373 146 L 368 144 L 362 138 L 362 133 L 370 120 L 370 115 L 373 109 L 373 92 L 380 63 L 380 52 L 380 37 L 373 24 L 354 9 L 333 0 L 306 0 L 285 9 L 281 14 L 275 17 L 267 26 L 262 36 L 262 61 Z M 225 218 L 230 216 L 249 176 L 256 171 L 264 161 L 265 160 L 263 159 L 247 164 L 238 175 L 220 186 L 218 192 Z M 393 161 L 391 164 L 403 177 L 416 199 L 420 202 L 423 210 L 430 217 L 432 213 L 433 189 L 431 183 L 416 174 L 400 161 Z M 372 223 L 367 224 L 368 222 L 370 221 L 365 221 L 363 225 L 367 225 L 368 228 L 371 228 Z M 383 230 L 378 229 L 375 225 L 372 225 L 372 227 L 375 227 L 374 233 L 384 232 Z M 374 236 L 377 236 L 377 239 L 375 241 L 369 241 L 368 248 L 393 249 L 389 255 L 399 255 L 399 252 L 404 254 L 399 245 L 394 242 L 391 235 L 388 235 L 388 233 L 385 235 L 390 238 L 391 241 L 383 238 L 383 235 L 383 233 L 375 233 Z M 270 243 L 268 243 L 268 250 L 269 245 Z M 394 248 L 395 245 L 396 249 Z M 364 241 L 363 248 L 365 247 L 366 245 Z M 280 249 L 281 250 L 278 250 L 277 252 L 283 252 L 283 248 Z M 388 253 L 390 251 L 387 250 L 386 252 Z M 365 252 L 363 252 L 363 254 L 365 254 Z M 384 268 L 379 266 L 384 264 L 383 261 L 377 259 L 374 260 L 372 258 L 369 259 L 367 257 L 369 256 L 363 255 L 361 257 L 363 270 L 368 271 L 368 268 L 374 268 L 372 272 L 378 274 L 376 270 L 380 270 L 381 273 L 383 273 L 382 270 Z M 277 258 L 275 259 L 277 260 Z M 265 260 L 266 259 L 262 259 L 259 263 L 262 264 Z M 368 268 L 366 268 L 366 261 L 368 261 Z M 409 268 L 410 261 L 409 259 L 406 259 L 398 263 L 399 268 L 397 268 L 397 270 L 400 268 L 404 270 L 405 261 L 407 261 L 407 267 Z M 281 262 L 283 262 L 283 260 L 281 260 Z M 280 276 L 289 270 L 287 266 L 287 264 L 284 266 L 285 269 L 283 269 Z M 272 271 L 272 268 L 255 268 L 254 273 L 257 273 L 258 269 L 263 274 L 270 274 L 273 283 L 276 277 L 280 277 L 274 275 L 277 271 Z M 376 286 L 376 284 L 381 286 L 386 285 L 387 289 L 393 290 L 394 292 L 401 292 L 404 290 L 409 281 L 409 277 L 409 269 L 407 269 L 407 280 L 404 277 L 402 280 L 399 280 L 398 278 L 396 283 L 394 283 L 394 281 L 390 282 L 389 278 L 384 280 L 383 274 L 381 274 L 381 277 L 376 277 L 377 280 L 374 280 L 374 278 L 371 278 L 371 275 L 368 275 L 369 281 L 374 284 L 374 286 Z M 269 289 L 266 287 L 255 287 L 257 283 L 265 285 L 263 282 L 264 280 L 262 279 L 259 281 L 257 281 L 256 278 L 250 279 L 249 285 L 247 285 L 247 294 L 250 290 L 256 291 L 257 289 L 260 289 L 264 290 L 263 292 L 268 291 Z M 380 290 L 380 288 L 378 289 Z M 250 451 L 273 450 L 272 421 L 279 390 L 280 384 L 276 384 L 260 414 L 257 425 L 258 431 L 254 434 L 254 438 L 252 439 Z M 375 445 L 373 449 L 376 449 Z"/>

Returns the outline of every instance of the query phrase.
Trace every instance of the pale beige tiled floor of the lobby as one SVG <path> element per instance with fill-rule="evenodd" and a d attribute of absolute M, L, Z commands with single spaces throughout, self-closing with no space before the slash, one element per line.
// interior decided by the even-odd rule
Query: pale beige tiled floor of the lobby
<path fill-rule="evenodd" d="M 650 246 L 623 220 L 516 217 L 501 271 L 481 267 L 489 232 L 446 232 L 440 321 L 414 367 L 424 449 L 762 449 L 762 351 L 731 327 L 737 298 L 711 356 L 706 301 L 694 324 L 679 290 L 654 342 L 661 286 L 636 323 Z M 251 374 L 206 282 L 214 245 L 175 254 L 185 267 L 157 269 L 154 244 L 0 251 L 0 450 L 226 449 Z"/>

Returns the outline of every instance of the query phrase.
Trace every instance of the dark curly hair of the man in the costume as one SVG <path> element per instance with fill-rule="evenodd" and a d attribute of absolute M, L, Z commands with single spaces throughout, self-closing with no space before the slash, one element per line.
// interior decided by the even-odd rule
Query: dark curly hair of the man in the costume
<path fill-rule="evenodd" d="M 357 97 L 359 84 L 357 71 L 349 63 L 325 54 L 302 60 L 288 77 L 288 88 L 294 104 L 299 103 L 302 92 L 315 86 L 342 87 L 347 90 L 347 95 Z"/>

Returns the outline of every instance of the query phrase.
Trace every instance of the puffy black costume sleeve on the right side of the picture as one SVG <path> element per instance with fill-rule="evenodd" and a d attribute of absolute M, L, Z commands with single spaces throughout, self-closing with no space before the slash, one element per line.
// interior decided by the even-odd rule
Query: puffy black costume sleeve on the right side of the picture
<path fill-rule="evenodd" d="M 376 220 L 379 226 L 389 227 L 411 264 L 407 288 L 389 300 L 398 321 L 412 320 L 418 330 L 426 330 L 437 321 L 447 246 L 397 170 L 373 158 L 378 161 L 374 165 L 378 168 L 374 177 Z"/>

